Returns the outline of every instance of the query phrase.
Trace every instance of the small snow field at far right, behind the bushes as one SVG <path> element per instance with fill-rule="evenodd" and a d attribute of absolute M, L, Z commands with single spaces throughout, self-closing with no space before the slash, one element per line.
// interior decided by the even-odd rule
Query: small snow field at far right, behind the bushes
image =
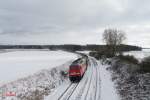
<path fill-rule="evenodd" d="M 135 58 L 141 61 L 143 58 L 150 56 L 150 49 L 143 49 L 142 51 L 125 52 L 124 55 L 133 55 Z"/>

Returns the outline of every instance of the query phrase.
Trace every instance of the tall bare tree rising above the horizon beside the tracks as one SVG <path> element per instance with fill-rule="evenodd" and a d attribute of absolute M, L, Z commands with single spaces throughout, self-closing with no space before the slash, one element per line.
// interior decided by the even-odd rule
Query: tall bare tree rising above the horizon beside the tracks
<path fill-rule="evenodd" d="M 121 43 L 126 39 L 125 33 L 117 29 L 105 29 L 103 33 L 103 40 L 107 45 L 107 52 L 111 56 L 120 53 L 117 49 Z"/>

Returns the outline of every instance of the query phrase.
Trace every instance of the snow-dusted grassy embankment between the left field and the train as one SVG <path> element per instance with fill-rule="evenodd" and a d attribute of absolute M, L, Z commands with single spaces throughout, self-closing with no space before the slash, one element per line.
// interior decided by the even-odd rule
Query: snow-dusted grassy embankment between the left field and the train
<path fill-rule="evenodd" d="M 67 78 L 61 72 L 68 71 L 71 62 L 69 61 L 58 67 L 41 70 L 34 75 L 3 85 L 0 87 L 0 100 L 2 99 L 1 95 L 4 97 L 3 100 L 11 99 L 9 96 L 3 96 L 6 92 L 16 93 L 16 99 L 14 100 L 43 100 L 44 95 L 53 92 L 55 88 L 66 82 Z"/>

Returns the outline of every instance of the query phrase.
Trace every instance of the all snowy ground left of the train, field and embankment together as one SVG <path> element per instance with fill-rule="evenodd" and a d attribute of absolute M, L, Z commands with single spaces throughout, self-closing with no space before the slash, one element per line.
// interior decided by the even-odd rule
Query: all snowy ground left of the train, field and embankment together
<path fill-rule="evenodd" d="M 43 100 L 44 95 L 65 82 L 66 77 L 61 72 L 67 72 L 76 58 L 76 54 L 64 51 L 0 53 L 0 63 L 3 65 L 0 66 L 1 84 L 9 82 L 0 86 L 0 100 Z M 15 96 L 6 96 L 11 92 Z"/>

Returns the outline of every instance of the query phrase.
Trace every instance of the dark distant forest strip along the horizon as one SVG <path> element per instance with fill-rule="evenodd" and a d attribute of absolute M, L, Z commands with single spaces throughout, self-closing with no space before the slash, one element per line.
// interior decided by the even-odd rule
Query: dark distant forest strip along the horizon
<path fill-rule="evenodd" d="M 69 51 L 99 51 L 105 49 L 106 45 L 74 45 L 74 44 L 65 44 L 65 45 L 0 45 L 0 49 L 50 49 L 50 50 L 69 50 Z M 142 50 L 141 47 L 132 46 L 132 45 L 120 45 L 118 48 L 121 51 L 137 51 Z"/>

